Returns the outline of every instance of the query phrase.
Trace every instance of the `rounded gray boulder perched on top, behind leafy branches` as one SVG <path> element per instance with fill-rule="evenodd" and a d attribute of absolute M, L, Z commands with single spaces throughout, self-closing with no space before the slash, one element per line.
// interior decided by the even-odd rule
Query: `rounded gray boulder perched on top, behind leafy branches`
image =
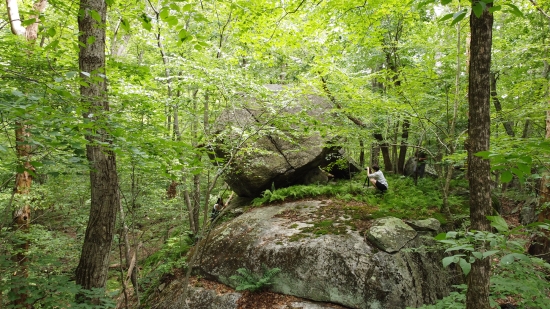
<path fill-rule="evenodd" d="M 282 93 L 280 85 L 268 85 L 268 89 Z M 225 180 L 242 197 L 257 197 L 272 187 L 308 184 L 311 179 L 326 181 L 328 175 L 320 174 L 319 168 L 343 158 L 340 148 L 326 146 L 335 137 L 322 136 L 306 121 L 327 120 L 331 105 L 324 98 L 301 95 L 272 100 L 284 104 L 249 100 L 242 108 L 225 110 L 216 121 L 220 138 L 214 152 L 232 160 Z M 347 166 L 339 169 L 349 173 Z M 355 166 L 351 169 L 357 170 Z M 330 173 L 340 174 L 336 170 Z"/>

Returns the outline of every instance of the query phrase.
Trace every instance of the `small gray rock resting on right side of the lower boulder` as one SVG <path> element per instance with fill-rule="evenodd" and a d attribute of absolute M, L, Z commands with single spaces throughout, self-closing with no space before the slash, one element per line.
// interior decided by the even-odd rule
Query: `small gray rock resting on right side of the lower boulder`
<path fill-rule="evenodd" d="M 374 220 L 367 232 L 367 238 L 388 253 L 399 251 L 415 237 L 416 231 L 395 217 Z"/>

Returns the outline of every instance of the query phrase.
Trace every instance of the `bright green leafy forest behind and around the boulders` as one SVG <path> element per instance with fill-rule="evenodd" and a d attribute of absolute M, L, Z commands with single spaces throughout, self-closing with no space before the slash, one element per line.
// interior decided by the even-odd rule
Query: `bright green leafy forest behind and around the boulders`
<path fill-rule="evenodd" d="M 8 18 L 19 19 L 14 2 L 19 32 Z M 104 11 L 83 13 L 81 5 L 94 2 Z M 485 9 L 491 1 L 476 3 Z M 550 1 L 492 7 L 491 148 L 482 155 L 493 163 L 493 192 L 512 183 L 527 199 L 549 166 Z M 235 128 L 217 130 L 217 116 L 246 104 L 245 96 L 271 102 L 273 123 L 344 136 L 338 146 L 362 165 L 381 152 L 385 172 L 402 174 L 407 156 L 423 149 L 439 176 L 438 206 L 453 213 L 450 182 L 467 161 L 468 19 L 478 9 L 470 1 L 398 0 L 0 4 L 0 295 L 8 295 L 0 302 L 46 308 L 85 293 L 78 285 L 105 284 L 106 273 L 92 282 L 77 267 L 86 228 L 101 208 L 91 192 L 120 199 L 103 215 L 112 218 L 112 255 L 125 248 L 119 266 L 130 269 L 132 282 L 144 243 L 157 239 L 157 248 L 167 243 L 174 251 L 175 236 L 200 234 L 231 163 L 213 159 L 209 145 L 223 141 L 234 156 L 253 151 L 246 141 L 273 133 L 227 139 Z M 104 25 L 104 40 L 83 35 L 84 16 Z M 83 70 L 82 51 L 101 41 L 105 64 Z M 266 84 L 287 91 L 272 93 Z M 83 92 L 94 85 L 104 87 L 95 94 L 99 105 Z M 338 125 L 277 117 L 277 108 L 304 94 L 326 96 Z M 111 160 L 107 182 L 90 179 L 94 151 Z M 165 268 L 183 263 L 170 261 Z M 111 276 L 108 289 L 124 281 Z"/>

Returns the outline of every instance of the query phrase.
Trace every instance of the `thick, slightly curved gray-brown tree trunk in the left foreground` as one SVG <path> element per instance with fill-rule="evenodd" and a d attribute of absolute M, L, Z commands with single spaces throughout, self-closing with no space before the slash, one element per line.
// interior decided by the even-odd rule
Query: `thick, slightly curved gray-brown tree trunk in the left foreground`
<path fill-rule="evenodd" d="M 91 11 L 99 14 L 101 23 L 92 18 Z M 87 83 L 80 86 L 83 104 L 88 107 L 83 116 L 86 121 L 97 123 L 98 120 L 104 121 L 109 111 L 107 83 L 101 77 L 105 74 L 107 4 L 104 0 L 81 0 L 79 12 L 78 64 L 81 72 L 87 72 L 91 76 L 90 78 L 86 76 L 88 74 L 81 75 Z M 82 254 L 76 268 L 76 283 L 89 290 L 105 287 L 120 195 L 115 154 L 98 144 L 108 143 L 111 140 L 110 136 L 105 129 L 98 127 L 94 132 L 87 132 L 86 139 L 86 156 L 90 164 L 91 205 Z M 77 299 L 84 300 L 81 295 L 77 296 Z"/>

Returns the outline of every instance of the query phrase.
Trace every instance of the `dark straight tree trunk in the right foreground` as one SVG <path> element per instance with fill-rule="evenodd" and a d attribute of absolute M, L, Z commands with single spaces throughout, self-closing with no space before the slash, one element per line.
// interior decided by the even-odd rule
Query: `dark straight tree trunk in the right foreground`
<path fill-rule="evenodd" d="M 472 3 L 475 5 L 478 1 Z M 490 138 L 490 69 L 493 15 L 487 3 L 483 14 L 478 18 L 470 14 L 470 69 L 469 69 L 469 123 L 468 123 L 468 181 L 470 187 L 471 228 L 490 231 L 487 220 L 491 215 L 490 163 L 475 156 L 477 152 L 489 150 Z M 490 260 L 476 260 L 467 277 L 467 309 L 490 309 L 489 278 Z"/>

